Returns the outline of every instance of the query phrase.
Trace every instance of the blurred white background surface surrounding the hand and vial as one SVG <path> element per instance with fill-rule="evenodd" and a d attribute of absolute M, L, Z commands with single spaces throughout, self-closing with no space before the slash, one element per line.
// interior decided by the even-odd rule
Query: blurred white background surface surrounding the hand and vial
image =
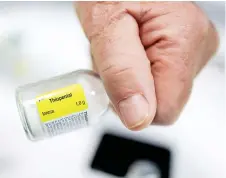
<path fill-rule="evenodd" d="M 219 13 L 217 8 L 212 6 L 210 14 Z M 19 77 L 15 77 L 11 65 L 6 65 L 7 73 L 0 73 L 0 177 L 86 177 L 82 168 L 93 149 L 91 145 L 96 143 L 104 128 L 113 127 L 132 137 L 138 135 L 147 141 L 171 144 L 176 153 L 173 178 L 225 177 L 224 24 L 217 21 L 218 17 L 214 18 L 223 43 L 214 60 L 197 77 L 192 96 L 175 125 L 132 133 L 114 114 L 108 113 L 100 126 L 32 143 L 26 139 L 20 123 L 15 87 L 91 68 L 89 43 L 71 2 L 0 2 L 0 44 L 6 44 L 6 39 L 14 33 L 22 34 L 22 54 L 11 60 L 13 64 L 18 59 L 24 60 L 27 67 L 25 74 Z M 0 59 L 6 63 L 2 55 Z"/>

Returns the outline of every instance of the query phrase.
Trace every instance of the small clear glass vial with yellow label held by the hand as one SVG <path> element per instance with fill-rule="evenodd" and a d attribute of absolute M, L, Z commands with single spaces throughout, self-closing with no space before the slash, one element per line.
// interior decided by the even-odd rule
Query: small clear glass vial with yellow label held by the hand
<path fill-rule="evenodd" d="M 99 76 L 90 70 L 19 87 L 16 101 L 23 128 L 32 141 L 95 124 L 109 105 Z"/>

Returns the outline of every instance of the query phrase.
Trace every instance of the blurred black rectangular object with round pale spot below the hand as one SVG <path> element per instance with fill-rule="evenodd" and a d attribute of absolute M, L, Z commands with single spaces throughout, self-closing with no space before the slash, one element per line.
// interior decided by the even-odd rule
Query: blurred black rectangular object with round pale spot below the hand
<path fill-rule="evenodd" d="M 91 168 L 118 177 L 169 178 L 170 160 L 166 148 L 105 133 Z"/>

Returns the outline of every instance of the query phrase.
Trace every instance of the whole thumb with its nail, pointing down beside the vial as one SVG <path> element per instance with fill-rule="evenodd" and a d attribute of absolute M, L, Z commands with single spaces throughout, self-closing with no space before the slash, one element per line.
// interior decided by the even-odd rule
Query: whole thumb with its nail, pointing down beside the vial
<path fill-rule="evenodd" d="M 97 71 L 122 122 L 131 130 L 140 130 L 155 116 L 156 96 L 138 24 L 124 12 L 109 17 L 107 12 L 100 14 L 104 15 L 87 16 L 84 21 L 80 16 Z"/>

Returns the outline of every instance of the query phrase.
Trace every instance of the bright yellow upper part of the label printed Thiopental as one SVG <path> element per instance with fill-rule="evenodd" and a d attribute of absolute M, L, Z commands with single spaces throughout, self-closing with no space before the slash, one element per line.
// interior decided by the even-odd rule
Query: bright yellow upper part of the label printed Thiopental
<path fill-rule="evenodd" d="M 88 109 L 84 89 L 80 84 L 42 94 L 36 98 L 36 105 L 42 122 Z"/>

